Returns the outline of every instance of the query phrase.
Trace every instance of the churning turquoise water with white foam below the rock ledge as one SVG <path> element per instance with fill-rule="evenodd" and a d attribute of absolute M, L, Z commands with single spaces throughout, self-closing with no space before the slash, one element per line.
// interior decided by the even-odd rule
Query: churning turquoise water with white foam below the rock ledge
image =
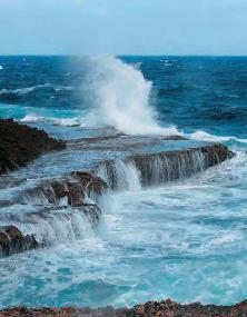
<path fill-rule="evenodd" d="M 246 165 L 246 153 L 239 152 L 182 182 L 109 192 L 100 202 L 102 219 L 95 236 L 0 260 L 1 305 L 244 299 Z"/>

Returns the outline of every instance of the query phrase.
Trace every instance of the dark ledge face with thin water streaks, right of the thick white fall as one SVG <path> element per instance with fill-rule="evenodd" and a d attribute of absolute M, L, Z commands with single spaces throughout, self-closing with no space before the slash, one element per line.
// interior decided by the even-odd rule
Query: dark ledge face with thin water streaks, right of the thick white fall
<path fill-rule="evenodd" d="M 223 145 L 130 157 L 140 171 L 144 186 L 186 179 L 234 157 Z"/>

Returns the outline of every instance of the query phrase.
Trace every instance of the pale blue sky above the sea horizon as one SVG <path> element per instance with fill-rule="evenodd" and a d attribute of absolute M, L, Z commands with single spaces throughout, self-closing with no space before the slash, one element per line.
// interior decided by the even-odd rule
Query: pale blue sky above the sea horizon
<path fill-rule="evenodd" d="M 247 55 L 247 0 L 0 0 L 0 55 Z"/>

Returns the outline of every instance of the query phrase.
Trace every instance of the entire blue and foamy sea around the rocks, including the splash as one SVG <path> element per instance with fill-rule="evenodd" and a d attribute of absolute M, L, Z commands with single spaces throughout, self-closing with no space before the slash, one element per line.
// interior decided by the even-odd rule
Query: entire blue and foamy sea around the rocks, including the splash
<path fill-rule="evenodd" d="M 160 187 L 130 175 L 128 188 L 102 197 L 97 229 L 69 207 L 69 221 L 59 210 L 30 220 L 38 207 L 18 197 L 115 152 L 70 147 L 0 177 L 0 226 L 50 244 L 0 259 L 0 308 L 246 299 L 247 58 L 0 57 L 0 116 L 65 140 L 181 135 L 236 153 Z"/>

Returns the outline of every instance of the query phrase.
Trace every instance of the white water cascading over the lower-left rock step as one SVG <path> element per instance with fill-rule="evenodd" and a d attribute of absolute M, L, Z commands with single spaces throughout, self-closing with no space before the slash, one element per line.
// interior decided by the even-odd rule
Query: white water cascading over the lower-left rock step
<path fill-rule="evenodd" d="M 17 226 L 24 235 L 33 234 L 42 246 L 73 244 L 95 235 L 92 226 L 80 209 L 14 205 L 0 212 L 0 222 Z M 18 210 L 18 211 L 17 211 Z"/>

